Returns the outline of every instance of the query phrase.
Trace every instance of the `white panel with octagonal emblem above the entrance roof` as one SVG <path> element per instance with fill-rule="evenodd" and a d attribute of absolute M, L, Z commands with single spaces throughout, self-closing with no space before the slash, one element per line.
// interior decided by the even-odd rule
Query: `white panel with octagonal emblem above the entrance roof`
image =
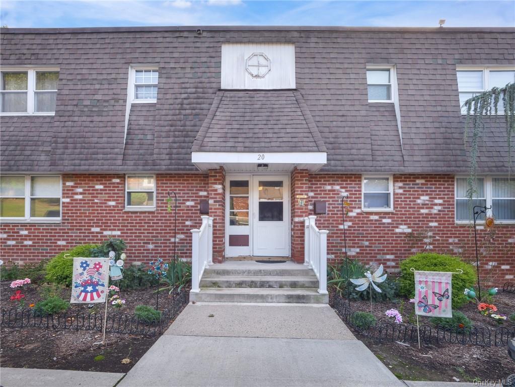
<path fill-rule="evenodd" d="M 224 43 L 222 89 L 295 89 L 295 45 Z"/>

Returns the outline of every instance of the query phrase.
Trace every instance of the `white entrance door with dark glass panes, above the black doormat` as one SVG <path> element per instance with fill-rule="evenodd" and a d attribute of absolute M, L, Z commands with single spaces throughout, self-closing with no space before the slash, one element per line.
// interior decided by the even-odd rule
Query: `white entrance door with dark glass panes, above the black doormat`
<path fill-rule="evenodd" d="M 288 178 L 253 176 L 252 187 L 252 255 L 289 256 Z"/>

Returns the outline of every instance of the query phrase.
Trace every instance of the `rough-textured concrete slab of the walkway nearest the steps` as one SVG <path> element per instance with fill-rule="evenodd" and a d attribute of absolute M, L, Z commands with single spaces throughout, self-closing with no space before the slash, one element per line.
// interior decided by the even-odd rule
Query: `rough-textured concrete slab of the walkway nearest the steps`
<path fill-rule="evenodd" d="M 356 340 L 327 304 L 190 303 L 165 334 Z"/>

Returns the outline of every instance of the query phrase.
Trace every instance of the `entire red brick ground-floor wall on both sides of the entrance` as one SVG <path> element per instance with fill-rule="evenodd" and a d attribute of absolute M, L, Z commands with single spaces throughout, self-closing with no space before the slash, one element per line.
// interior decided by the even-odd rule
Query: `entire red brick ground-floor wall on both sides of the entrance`
<path fill-rule="evenodd" d="M 100 243 L 108 237 L 127 243 L 131 262 L 168 258 L 174 248 L 174 215 L 166 211 L 168 191 L 178 195 L 177 251 L 191 258 L 191 232 L 201 225 L 199 200 L 210 200 L 214 221 L 214 259 L 224 259 L 225 173 L 158 174 L 157 208 L 129 212 L 125 208 L 124 175 L 63 175 L 62 223 L 3 224 L 0 247 L 4 261 L 35 262 L 53 257 L 77 244 Z M 350 258 L 382 263 L 396 270 L 399 260 L 424 250 L 460 255 L 475 261 L 473 229 L 454 222 L 454 177 L 451 175 L 394 176 L 394 212 L 363 212 L 361 175 L 316 174 L 294 171 L 291 176 L 292 257 L 303 261 L 303 223 L 313 214 L 313 201 L 327 201 L 328 213 L 316 224 L 327 229 L 331 260 L 344 257 L 341 194 L 348 193 L 346 219 Z M 307 195 L 306 206 L 296 195 Z M 309 206 L 309 207 L 308 207 Z M 482 277 L 502 284 L 515 268 L 515 225 L 480 228 Z"/>

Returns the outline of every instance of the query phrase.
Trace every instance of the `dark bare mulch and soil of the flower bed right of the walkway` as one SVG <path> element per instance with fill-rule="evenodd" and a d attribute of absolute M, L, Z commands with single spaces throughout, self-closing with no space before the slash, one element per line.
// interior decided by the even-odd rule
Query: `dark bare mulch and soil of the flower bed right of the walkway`
<path fill-rule="evenodd" d="M 334 297 L 331 293 L 331 297 Z M 404 308 L 403 321 L 409 322 L 413 304 L 409 299 L 402 299 Z M 509 316 L 515 312 L 515 294 L 499 292 L 493 298 L 493 304 L 499 313 Z M 384 313 L 388 309 L 400 311 L 400 300 L 397 302 L 381 302 L 372 304 L 372 313 L 379 319 L 388 319 Z M 492 331 L 497 324 L 492 319 L 477 312 L 475 303 L 470 302 L 459 311 L 467 315 L 475 325 L 488 326 Z M 370 301 L 351 301 L 353 311 L 370 312 Z M 391 318 L 393 322 L 393 318 Z M 413 321 L 416 324 L 416 321 Z M 431 325 L 429 319 L 419 316 L 420 325 Z M 512 327 L 513 322 L 507 319 L 505 327 Z M 473 381 L 500 380 L 515 373 L 515 361 L 509 358 L 505 346 L 472 346 L 460 344 L 422 345 L 419 350 L 416 343 L 403 345 L 399 343 L 376 344 L 371 339 L 356 334 L 367 347 L 374 352 L 391 371 L 401 379 L 432 381 Z"/>

